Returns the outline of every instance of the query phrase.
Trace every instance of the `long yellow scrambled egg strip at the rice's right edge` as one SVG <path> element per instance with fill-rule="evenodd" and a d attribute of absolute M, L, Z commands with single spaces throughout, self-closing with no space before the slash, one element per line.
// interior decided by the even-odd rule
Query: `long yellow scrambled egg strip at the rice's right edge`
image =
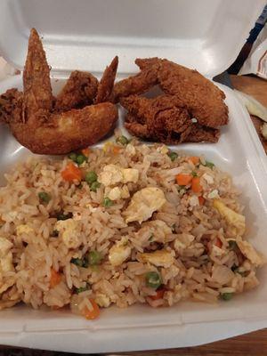
<path fill-rule="evenodd" d="M 245 216 L 236 213 L 230 207 L 225 206 L 219 199 L 214 199 L 214 208 L 223 216 L 227 223 L 233 226 L 233 232 L 243 235 L 246 229 Z"/>

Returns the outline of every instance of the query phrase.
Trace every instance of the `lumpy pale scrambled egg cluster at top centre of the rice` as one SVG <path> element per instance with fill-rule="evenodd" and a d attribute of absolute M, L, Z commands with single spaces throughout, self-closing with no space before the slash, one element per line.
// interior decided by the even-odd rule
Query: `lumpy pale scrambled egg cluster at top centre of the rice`
<path fill-rule="evenodd" d="M 105 187 L 116 185 L 119 182 L 137 182 L 139 171 L 134 168 L 121 168 L 120 166 L 107 165 L 104 166 L 98 181 Z"/>

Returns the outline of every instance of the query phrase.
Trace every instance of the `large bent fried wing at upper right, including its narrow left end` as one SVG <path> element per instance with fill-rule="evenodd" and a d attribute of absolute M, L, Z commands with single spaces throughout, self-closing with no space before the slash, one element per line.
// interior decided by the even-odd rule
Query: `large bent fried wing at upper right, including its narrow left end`
<path fill-rule="evenodd" d="M 129 94 L 145 93 L 158 84 L 164 93 L 179 98 L 199 125 L 216 128 L 228 123 L 224 93 L 197 70 L 158 58 L 136 59 L 135 63 L 141 72 L 115 85 L 115 101 Z"/>

